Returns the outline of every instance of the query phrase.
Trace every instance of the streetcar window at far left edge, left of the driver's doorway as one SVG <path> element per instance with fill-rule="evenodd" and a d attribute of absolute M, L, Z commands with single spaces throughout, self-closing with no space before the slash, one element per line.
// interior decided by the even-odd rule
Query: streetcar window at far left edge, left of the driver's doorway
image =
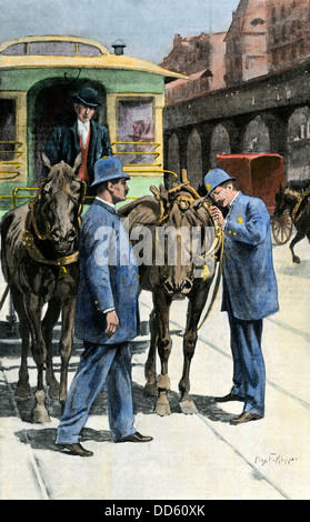
<path fill-rule="evenodd" d="M 14 100 L 0 99 L 0 161 L 14 159 L 14 140 L 16 102 Z"/>

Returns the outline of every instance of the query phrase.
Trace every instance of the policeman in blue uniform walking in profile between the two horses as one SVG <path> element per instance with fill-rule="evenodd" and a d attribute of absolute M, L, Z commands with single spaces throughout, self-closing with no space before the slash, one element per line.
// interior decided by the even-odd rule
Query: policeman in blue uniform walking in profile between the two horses
<path fill-rule="evenodd" d="M 82 219 L 76 335 L 84 351 L 66 401 L 56 444 L 91 456 L 79 442 L 91 405 L 107 389 L 109 423 L 116 442 L 149 442 L 133 428 L 129 341 L 139 325 L 138 267 L 114 204 L 124 201 L 128 174 L 117 158 L 94 165 L 97 198 Z"/>

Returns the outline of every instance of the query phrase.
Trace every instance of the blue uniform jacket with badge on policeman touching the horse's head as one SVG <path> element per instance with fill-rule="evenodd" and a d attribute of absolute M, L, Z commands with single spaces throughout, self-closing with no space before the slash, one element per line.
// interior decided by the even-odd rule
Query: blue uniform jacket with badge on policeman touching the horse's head
<path fill-rule="evenodd" d="M 270 217 L 258 198 L 238 193 L 227 215 L 222 310 L 258 320 L 279 310 Z"/>

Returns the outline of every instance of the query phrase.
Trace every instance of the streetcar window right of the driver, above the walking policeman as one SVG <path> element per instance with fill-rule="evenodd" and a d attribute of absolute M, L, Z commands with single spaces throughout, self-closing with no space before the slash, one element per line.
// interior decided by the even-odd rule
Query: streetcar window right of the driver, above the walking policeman
<path fill-rule="evenodd" d="M 118 103 L 118 158 L 124 164 L 154 163 L 153 135 L 152 99 L 120 100 Z"/>

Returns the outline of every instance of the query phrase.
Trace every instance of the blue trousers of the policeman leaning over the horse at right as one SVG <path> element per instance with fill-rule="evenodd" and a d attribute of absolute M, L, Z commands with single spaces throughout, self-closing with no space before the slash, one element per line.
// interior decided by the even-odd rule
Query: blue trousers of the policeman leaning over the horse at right
<path fill-rule="evenodd" d="M 266 371 L 261 351 L 262 319 L 242 321 L 228 312 L 233 387 L 231 393 L 244 400 L 243 411 L 264 414 Z"/>

